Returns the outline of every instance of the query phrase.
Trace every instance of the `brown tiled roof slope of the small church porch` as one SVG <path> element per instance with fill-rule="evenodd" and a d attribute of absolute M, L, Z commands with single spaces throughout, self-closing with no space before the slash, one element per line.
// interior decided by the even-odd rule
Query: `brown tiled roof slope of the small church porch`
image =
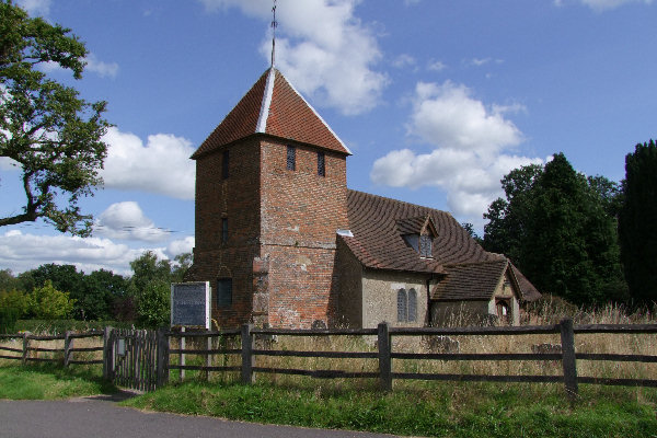
<path fill-rule="evenodd" d="M 489 300 L 509 262 L 498 258 L 489 262 L 463 263 L 445 266 L 447 277 L 431 291 L 433 300 Z"/>

